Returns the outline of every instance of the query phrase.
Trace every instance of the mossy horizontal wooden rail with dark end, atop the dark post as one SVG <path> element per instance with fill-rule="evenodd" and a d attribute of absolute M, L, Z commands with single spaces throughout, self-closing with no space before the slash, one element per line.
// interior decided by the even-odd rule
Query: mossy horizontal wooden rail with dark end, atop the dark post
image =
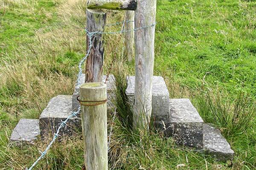
<path fill-rule="evenodd" d="M 90 9 L 112 9 L 112 10 L 131 10 L 137 7 L 137 0 L 88 0 L 87 8 Z"/>

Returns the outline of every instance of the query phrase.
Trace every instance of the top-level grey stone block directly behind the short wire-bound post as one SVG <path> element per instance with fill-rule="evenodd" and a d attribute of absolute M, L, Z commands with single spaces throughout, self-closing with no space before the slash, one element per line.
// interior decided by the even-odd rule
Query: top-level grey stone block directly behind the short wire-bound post
<path fill-rule="evenodd" d="M 85 74 L 82 74 L 81 75 L 81 79 L 80 79 L 80 83 L 83 84 L 85 82 Z M 107 106 L 108 107 L 113 107 L 113 103 L 111 102 L 111 100 L 113 99 L 114 97 L 114 93 L 113 91 L 115 90 L 115 77 L 110 74 L 107 78 L 106 75 L 103 75 L 102 77 L 102 82 L 103 83 L 106 83 L 107 85 Z M 77 109 L 79 108 L 79 102 L 77 101 L 77 96 L 79 95 L 79 85 L 76 85 L 75 87 L 75 91 L 73 93 L 73 96 L 72 96 L 72 108 L 74 111 L 77 111 Z"/>

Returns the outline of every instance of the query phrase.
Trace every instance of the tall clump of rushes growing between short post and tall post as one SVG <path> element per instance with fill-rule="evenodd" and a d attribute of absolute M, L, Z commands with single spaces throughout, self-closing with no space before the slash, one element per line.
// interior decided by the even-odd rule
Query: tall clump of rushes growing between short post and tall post
<path fill-rule="evenodd" d="M 112 55 L 111 72 L 115 77 L 116 88 L 111 100 L 116 107 L 116 114 L 122 126 L 132 129 L 132 111 L 125 94 L 129 79 L 128 68 L 122 54 L 115 53 Z"/>

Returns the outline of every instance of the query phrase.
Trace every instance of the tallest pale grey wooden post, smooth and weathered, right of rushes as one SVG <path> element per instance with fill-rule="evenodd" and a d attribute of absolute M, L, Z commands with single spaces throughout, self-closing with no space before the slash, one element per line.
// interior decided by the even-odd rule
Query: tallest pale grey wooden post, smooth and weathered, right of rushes
<path fill-rule="evenodd" d="M 157 0 L 139 0 L 135 11 L 135 28 L 155 23 Z M 148 128 L 151 116 L 154 69 L 154 31 L 148 27 L 135 31 L 135 88 L 133 128 Z"/>

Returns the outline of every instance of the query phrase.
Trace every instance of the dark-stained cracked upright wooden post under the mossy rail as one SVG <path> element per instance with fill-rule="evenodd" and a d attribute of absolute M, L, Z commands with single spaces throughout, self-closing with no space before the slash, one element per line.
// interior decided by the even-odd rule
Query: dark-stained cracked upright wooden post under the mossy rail
<path fill-rule="evenodd" d="M 107 14 L 102 10 L 87 9 L 87 25 L 89 32 L 105 32 Z M 89 49 L 89 37 L 87 34 L 86 45 Z M 102 82 L 102 67 L 104 60 L 105 34 L 95 34 L 92 38 L 90 55 L 85 66 L 85 82 Z"/>

